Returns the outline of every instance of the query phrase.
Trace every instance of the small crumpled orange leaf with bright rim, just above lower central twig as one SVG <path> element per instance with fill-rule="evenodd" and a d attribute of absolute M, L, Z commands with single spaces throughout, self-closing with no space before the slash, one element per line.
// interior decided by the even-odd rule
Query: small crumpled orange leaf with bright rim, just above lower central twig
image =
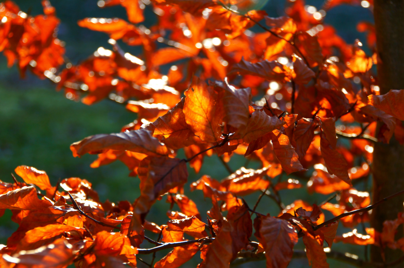
<path fill-rule="evenodd" d="M 183 220 L 170 220 L 167 222 L 167 231 L 182 231 L 191 237 L 206 237 L 205 223 L 198 220 L 195 216 Z"/>

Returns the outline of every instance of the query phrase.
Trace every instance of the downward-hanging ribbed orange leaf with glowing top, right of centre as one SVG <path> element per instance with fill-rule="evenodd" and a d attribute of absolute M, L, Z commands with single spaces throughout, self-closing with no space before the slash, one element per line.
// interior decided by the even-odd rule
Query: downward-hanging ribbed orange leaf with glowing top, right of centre
<path fill-rule="evenodd" d="M 296 154 L 295 148 L 290 145 L 288 136 L 282 134 L 279 130 L 274 130 L 271 132 L 271 139 L 276 158 L 278 158 L 287 174 L 306 170 L 300 164 L 299 156 Z"/>

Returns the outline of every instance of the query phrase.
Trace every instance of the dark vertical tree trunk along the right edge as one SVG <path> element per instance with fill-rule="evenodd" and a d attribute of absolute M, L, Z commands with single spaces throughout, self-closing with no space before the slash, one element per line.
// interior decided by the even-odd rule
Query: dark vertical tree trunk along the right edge
<path fill-rule="evenodd" d="M 377 37 L 377 74 L 380 93 L 404 89 L 404 0 L 375 0 Z M 389 144 L 375 143 L 373 152 L 373 202 L 404 190 L 404 146 L 394 137 Z M 371 226 L 381 232 L 385 220 L 397 218 L 403 211 L 404 195 L 377 206 L 371 214 Z M 397 237 L 402 237 L 403 229 Z M 371 248 L 374 262 L 383 262 L 378 247 Z M 402 256 L 400 250 L 385 250 L 385 262 Z M 401 265 L 402 266 L 402 265 Z"/>

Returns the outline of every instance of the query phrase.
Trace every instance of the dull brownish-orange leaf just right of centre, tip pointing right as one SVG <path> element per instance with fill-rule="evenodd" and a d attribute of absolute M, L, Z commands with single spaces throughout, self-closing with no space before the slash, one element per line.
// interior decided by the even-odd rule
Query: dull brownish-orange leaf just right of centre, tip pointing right
<path fill-rule="evenodd" d="M 243 141 L 249 143 L 271 131 L 284 125 L 284 122 L 276 116 L 268 116 L 264 110 L 252 112 L 246 127 Z"/>

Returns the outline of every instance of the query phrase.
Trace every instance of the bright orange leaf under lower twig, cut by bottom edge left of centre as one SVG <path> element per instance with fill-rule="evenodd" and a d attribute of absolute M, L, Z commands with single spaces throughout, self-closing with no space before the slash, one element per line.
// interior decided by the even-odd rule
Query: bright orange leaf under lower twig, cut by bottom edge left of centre
<path fill-rule="evenodd" d="M 175 247 L 164 258 L 154 264 L 154 268 L 177 268 L 198 252 L 200 243 L 193 243 L 181 247 Z"/>

